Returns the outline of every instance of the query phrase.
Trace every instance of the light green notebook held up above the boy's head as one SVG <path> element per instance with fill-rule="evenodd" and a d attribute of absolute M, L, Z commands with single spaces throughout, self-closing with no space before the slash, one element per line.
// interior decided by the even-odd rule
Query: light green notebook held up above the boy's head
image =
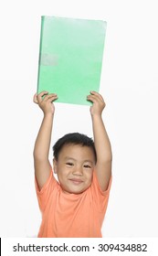
<path fill-rule="evenodd" d="M 37 93 L 89 105 L 87 95 L 100 89 L 105 32 L 105 21 L 42 16 Z"/>

